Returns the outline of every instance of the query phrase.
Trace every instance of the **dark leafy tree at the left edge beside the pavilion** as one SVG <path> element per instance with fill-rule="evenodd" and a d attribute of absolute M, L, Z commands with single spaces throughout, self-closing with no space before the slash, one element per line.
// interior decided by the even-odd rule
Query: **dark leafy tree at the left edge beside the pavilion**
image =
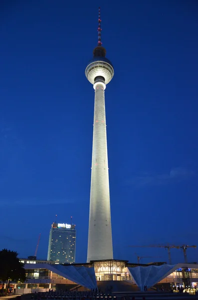
<path fill-rule="evenodd" d="M 7 289 L 9 286 L 9 281 L 23 282 L 25 277 L 25 269 L 23 263 L 21 263 L 17 257 L 18 253 L 15 251 L 10 251 L 7 249 L 0 250 L 0 280 L 4 283 L 7 281 Z"/>

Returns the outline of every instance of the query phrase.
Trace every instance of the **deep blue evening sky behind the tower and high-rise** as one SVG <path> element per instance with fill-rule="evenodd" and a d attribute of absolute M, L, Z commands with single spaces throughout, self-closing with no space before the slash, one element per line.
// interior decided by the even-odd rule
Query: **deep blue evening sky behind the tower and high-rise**
<path fill-rule="evenodd" d="M 114 258 L 167 261 L 128 245 L 198 244 L 196 0 L 0 1 L 0 248 L 33 255 L 41 232 L 46 258 L 55 214 L 72 215 L 86 260 L 99 5 Z"/>

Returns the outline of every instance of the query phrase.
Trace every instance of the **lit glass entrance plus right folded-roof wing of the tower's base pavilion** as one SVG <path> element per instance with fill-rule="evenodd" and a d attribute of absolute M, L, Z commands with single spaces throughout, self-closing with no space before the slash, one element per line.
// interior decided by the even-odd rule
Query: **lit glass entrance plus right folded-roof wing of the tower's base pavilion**
<path fill-rule="evenodd" d="M 161 291 L 165 284 L 167 289 L 180 292 L 181 288 L 193 292 L 193 289 L 198 287 L 197 263 L 167 264 L 158 261 L 143 264 L 130 263 L 128 260 L 104 259 L 72 265 L 94 268 L 98 289 L 104 292 L 145 291 L 145 286 L 148 290 L 154 287 L 155 290 Z"/>

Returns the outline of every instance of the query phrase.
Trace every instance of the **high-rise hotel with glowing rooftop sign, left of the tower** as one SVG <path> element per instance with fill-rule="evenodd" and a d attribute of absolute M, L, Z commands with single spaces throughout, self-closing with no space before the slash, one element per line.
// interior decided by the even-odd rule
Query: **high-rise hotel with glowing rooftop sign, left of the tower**
<path fill-rule="evenodd" d="M 47 260 L 75 262 L 76 229 L 74 224 L 53 223 L 49 232 Z"/>

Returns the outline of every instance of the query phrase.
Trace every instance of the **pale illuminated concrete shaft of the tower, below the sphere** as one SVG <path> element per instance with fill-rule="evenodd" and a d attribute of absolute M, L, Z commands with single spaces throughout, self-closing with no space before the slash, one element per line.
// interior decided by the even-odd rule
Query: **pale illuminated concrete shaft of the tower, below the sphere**
<path fill-rule="evenodd" d="M 96 80 L 97 81 L 97 80 Z M 95 88 L 87 262 L 113 259 L 105 115 L 105 83 Z"/>

